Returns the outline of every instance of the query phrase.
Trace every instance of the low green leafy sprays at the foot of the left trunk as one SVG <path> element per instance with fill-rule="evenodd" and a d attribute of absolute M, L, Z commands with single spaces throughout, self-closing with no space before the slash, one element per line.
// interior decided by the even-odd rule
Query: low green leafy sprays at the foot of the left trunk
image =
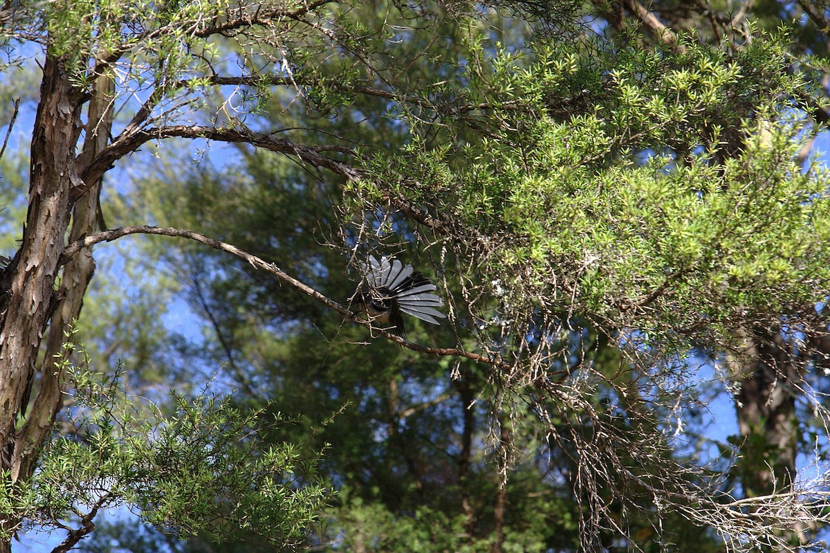
<path fill-rule="evenodd" d="M 173 394 L 164 416 L 125 395 L 121 370 L 95 373 L 68 355 L 61 370 L 74 390 L 58 427 L 65 430 L 46 443 L 24 490 L 0 491 L 0 505 L 27 524 L 69 529 L 64 521 L 86 524 L 101 508 L 124 506 L 166 533 L 283 547 L 303 541 L 318 520 L 329 497 L 317 477 L 319 454 L 261 440 L 288 424 L 281 414 L 242 412 L 231 396 L 205 389 L 189 399 Z"/>

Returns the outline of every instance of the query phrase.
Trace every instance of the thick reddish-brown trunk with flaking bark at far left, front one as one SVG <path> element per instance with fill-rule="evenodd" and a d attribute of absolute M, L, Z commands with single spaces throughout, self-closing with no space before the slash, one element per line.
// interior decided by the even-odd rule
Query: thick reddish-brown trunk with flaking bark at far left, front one
<path fill-rule="evenodd" d="M 62 294 L 55 283 L 69 227 L 71 193 L 81 183 L 75 151 L 82 100 L 82 91 L 71 85 L 61 60 L 47 55 L 32 133 L 22 245 L 2 275 L 6 296 L 0 314 L 0 468 L 12 483 L 22 476 L 15 460 L 17 421 L 26 413 L 46 323 Z M 19 518 L 3 514 L 2 528 L 15 529 Z M 0 552 L 9 550 L 8 542 L 0 545 Z"/>

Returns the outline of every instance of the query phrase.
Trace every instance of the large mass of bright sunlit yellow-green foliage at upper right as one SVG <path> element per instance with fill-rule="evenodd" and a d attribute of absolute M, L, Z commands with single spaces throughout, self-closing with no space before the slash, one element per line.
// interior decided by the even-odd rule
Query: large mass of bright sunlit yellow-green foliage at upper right
<path fill-rule="evenodd" d="M 478 86 L 506 100 L 489 132 L 462 156 L 415 144 L 378 158 L 371 182 L 461 223 L 453 241 L 486 241 L 482 280 L 510 287 L 503 307 L 541 297 L 667 339 L 822 301 L 830 183 L 794 162 L 805 85 L 782 68 L 786 36 L 736 50 L 635 39 L 494 64 Z"/>

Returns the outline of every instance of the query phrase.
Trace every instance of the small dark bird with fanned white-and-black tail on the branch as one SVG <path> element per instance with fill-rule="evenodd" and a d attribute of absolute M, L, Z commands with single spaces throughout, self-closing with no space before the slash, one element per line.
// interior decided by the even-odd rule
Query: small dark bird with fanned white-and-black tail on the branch
<path fill-rule="evenodd" d="M 444 305 L 441 297 L 427 292 L 436 286 L 411 265 L 404 265 L 397 259 L 381 257 L 380 261 L 369 256 L 369 263 L 361 263 L 360 269 L 369 283 L 369 290 L 356 291 L 351 302 L 359 306 L 369 321 L 388 323 L 386 329 L 401 338 L 406 336 L 401 312 L 440 325 L 437 318 L 446 317 L 434 309 Z"/>

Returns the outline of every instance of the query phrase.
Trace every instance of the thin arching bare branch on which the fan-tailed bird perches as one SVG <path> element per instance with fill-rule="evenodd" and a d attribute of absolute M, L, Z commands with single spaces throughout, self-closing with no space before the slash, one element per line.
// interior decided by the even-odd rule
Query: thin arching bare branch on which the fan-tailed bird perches
<path fill-rule="evenodd" d="M 504 361 L 492 359 L 491 357 L 486 357 L 486 355 L 479 355 L 476 353 L 472 353 L 470 351 L 459 350 L 457 348 L 432 348 L 426 345 L 413 344 L 411 342 L 408 342 L 407 340 L 403 340 L 403 338 L 399 336 L 390 334 L 385 330 L 381 330 L 372 326 L 370 321 L 364 321 L 363 319 L 356 316 L 348 308 L 341 306 L 336 301 L 330 300 L 327 296 L 321 294 L 319 291 L 316 291 L 314 288 L 308 286 L 304 282 L 298 281 L 293 276 L 282 271 L 279 267 L 276 267 L 276 265 L 274 265 L 273 263 L 263 261 L 260 257 L 256 257 L 251 253 L 244 252 L 238 247 L 233 246 L 232 244 L 221 242 L 219 240 L 216 240 L 215 238 L 199 234 L 198 232 L 186 231 L 180 228 L 148 226 L 114 228 L 109 231 L 100 232 L 92 236 L 81 238 L 81 240 L 77 240 L 76 242 L 71 242 L 71 244 L 69 244 L 69 246 L 67 246 L 66 249 L 63 251 L 63 255 L 61 256 L 61 263 L 65 264 L 66 262 L 69 262 L 69 260 L 71 260 L 73 256 L 75 256 L 85 247 L 90 247 L 100 242 L 112 242 L 113 240 L 117 240 L 118 238 L 127 236 L 128 234 L 158 234 L 161 236 L 183 237 L 188 238 L 189 240 L 194 240 L 196 242 L 202 242 L 206 246 L 216 248 L 217 250 L 220 250 L 222 252 L 230 253 L 233 256 L 239 257 L 240 259 L 247 261 L 251 264 L 251 267 L 271 273 L 271 275 L 276 276 L 281 281 L 286 282 L 291 286 L 294 286 L 297 290 L 301 291 L 306 296 L 310 296 L 315 300 L 320 301 L 320 303 L 324 304 L 333 311 L 337 311 L 340 315 L 344 316 L 346 319 L 349 319 L 349 321 L 353 321 L 358 323 L 359 325 L 364 325 L 368 328 L 371 328 L 372 330 L 378 332 L 378 334 L 383 335 L 383 337 L 387 340 L 392 340 L 393 342 L 396 342 L 397 344 L 402 345 L 403 347 L 408 348 L 410 350 L 417 351 L 419 353 L 424 353 L 427 355 L 436 355 L 437 357 L 464 357 L 466 359 L 476 361 L 476 363 L 495 365 L 501 368 L 508 368 L 510 366 Z"/>

